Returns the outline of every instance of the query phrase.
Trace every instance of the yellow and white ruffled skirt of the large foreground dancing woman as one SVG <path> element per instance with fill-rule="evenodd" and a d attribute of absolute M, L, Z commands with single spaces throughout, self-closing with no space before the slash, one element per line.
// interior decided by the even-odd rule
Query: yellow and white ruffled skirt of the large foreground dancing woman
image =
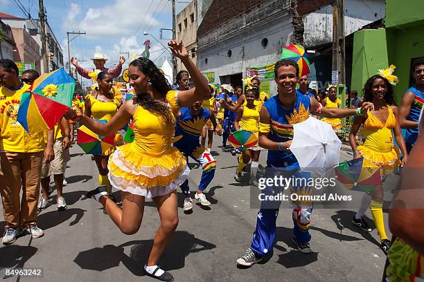
<path fill-rule="evenodd" d="M 178 149 L 149 156 L 132 148 L 125 144 L 109 157 L 109 182 L 116 189 L 154 198 L 170 194 L 188 178 L 190 169 Z"/>

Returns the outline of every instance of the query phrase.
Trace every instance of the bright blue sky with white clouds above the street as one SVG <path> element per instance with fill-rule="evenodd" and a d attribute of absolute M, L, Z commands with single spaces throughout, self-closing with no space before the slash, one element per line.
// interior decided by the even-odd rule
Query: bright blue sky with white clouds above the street
<path fill-rule="evenodd" d="M 38 18 L 37 0 L 0 0 L 0 12 L 24 17 L 16 2 L 19 1 L 31 17 Z M 190 0 L 176 3 L 177 13 L 188 6 Z M 183 3 L 184 2 L 184 3 Z M 94 53 L 103 53 L 107 58 L 107 67 L 118 63 L 118 57 L 124 56 L 129 64 L 127 54 L 135 58 L 145 50 L 143 45 L 150 39 L 150 59 L 160 65 L 170 57 L 161 44 L 169 40 L 159 39 L 160 28 L 172 28 L 172 3 L 168 0 L 44 0 L 48 24 L 53 29 L 64 55 L 64 64 L 68 61 L 67 32 L 87 32 L 71 41 L 71 57 L 76 57 L 83 67 L 92 68 L 90 58 Z M 149 32 L 156 37 L 158 43 Z M 170 39 L 172 32 L 165 31 L 164 37 Z M 71 37 L 71 35 L 70 35 Z M 164 53 L 165 51 L 165 53 Z M 125 68 L 124 65 L 124 68 Z"/>

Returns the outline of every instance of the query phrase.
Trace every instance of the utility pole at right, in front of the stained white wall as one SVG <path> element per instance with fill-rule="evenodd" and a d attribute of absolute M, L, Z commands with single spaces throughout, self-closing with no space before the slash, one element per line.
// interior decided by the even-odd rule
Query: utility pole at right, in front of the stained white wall
<path fill-rule="evenodd" d="M 346 85 L 344 49 L 344 0 L 333 2 L 333 71 L 338 71 L 337 84 Z"/>

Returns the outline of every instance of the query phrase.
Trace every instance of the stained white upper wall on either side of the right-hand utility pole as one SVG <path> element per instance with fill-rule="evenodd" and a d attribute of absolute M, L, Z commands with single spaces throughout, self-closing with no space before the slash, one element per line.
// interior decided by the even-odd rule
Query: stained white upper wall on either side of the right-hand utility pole
<path fill-rule="evenodd" d="M 350 35 L 368 23 L 385 17 L 383 0 L 345 0 L 344 32 Z M 305 26 L 304 42 L 306 47 L 326 44 L 333 41 L 333 6 L 319 8 L 303 17 Z"/>

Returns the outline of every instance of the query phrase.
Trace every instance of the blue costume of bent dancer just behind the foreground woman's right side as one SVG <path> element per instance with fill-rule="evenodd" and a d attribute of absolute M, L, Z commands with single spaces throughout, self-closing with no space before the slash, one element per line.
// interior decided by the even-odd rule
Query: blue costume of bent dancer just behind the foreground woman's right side
<path fill-rule="evenodd" d="M 200 114 L 193 116 L 190 108 L 185 107 L 179 111 L 178 122 L 175 126 L 175 136 L 182 136 L 174 146 L 179 149 L 185 156 L 191 157 L 202 165 L 202 178 L 199 183 L 199 190 L 203 191 L 213 180 L 215 176 L 216 160 L 211 153 L 200 145 L 199 139 L 202 134 L 203 126 L 210 121 L 211 112 L 207 109 L 201 109 Z M 190 194 L 188 180 L 182 185 L 181 189 L 184 194 Z"/>

